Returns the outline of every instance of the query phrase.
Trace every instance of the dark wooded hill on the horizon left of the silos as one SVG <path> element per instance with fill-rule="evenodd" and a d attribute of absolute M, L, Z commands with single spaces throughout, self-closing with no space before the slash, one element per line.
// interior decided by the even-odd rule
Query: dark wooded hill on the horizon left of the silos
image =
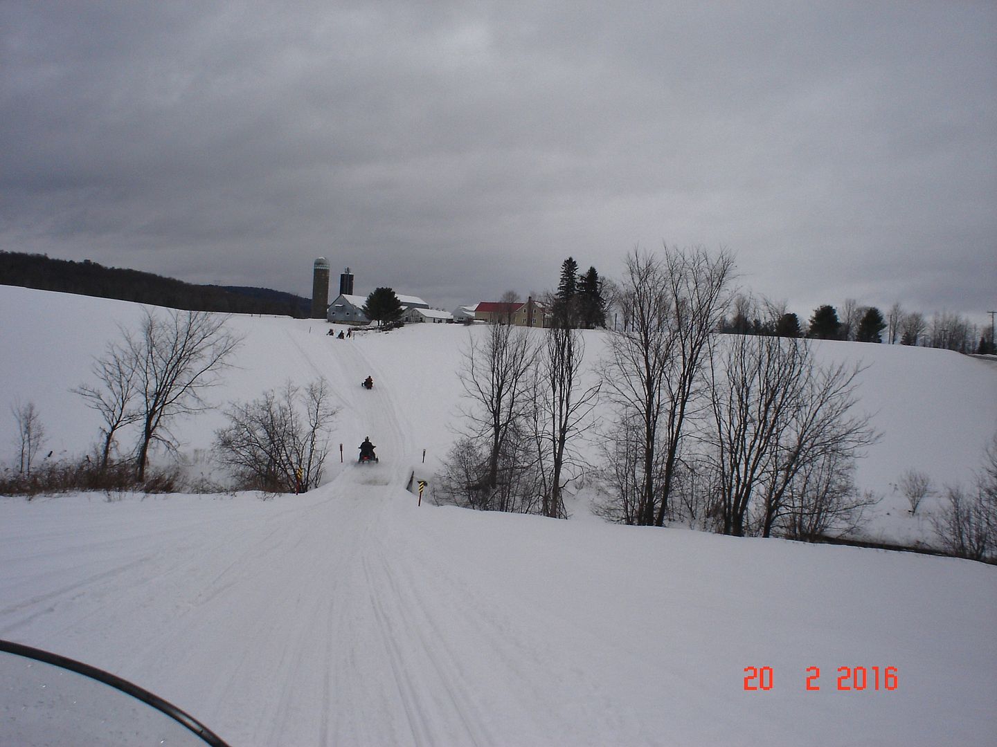
<path fill-rule="evenodd" d="M 311 310 L 309 299 L 269 288 L 193 285 L 148 272 L 104 267 L 90 260 L 73 262 L 20 252 L 0 252 L 0 284 L 188 311 L 304 319 Z"/>

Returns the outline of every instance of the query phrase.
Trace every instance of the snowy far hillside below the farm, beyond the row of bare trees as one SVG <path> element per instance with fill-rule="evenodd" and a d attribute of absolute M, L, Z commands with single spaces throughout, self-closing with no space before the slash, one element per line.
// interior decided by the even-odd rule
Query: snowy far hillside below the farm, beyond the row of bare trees
<path fill-rule="evenodd" d="M 0 287 L 0 406 L 9 413 L 16 402 L 34 401 L 48 425 L 47 449 L 54 456 L 79 455 L 97 440 L 99 420 L 70 388 L 92 378 L 93 356 L 120 337 L 121 327 L 135 326 L 141 307 L 135 304 L 68 294 Z M 375 443 L 397 436 L 405 453 L 390 460 L 412 462 L 427 452 L 429 473 L 455 441 L 461 384 L 458 371 L 468 336 L 481 333 L 454 325 L 409 326 L 391 334 L 364 334 L 340 341 L 326 336 L 321 321 L 234 315 L 230 328 L 244 338 L 221 386 L 209 392 L 219 404 L 258 397 L 285 381 L 307 383 L 319 375 L 333 384 L 340 413 L 332 442 L 355 452 L 364 435 Z M 604 333 L 585 333 L 586 362 L 604 355 Z M 900 475 L 916 468 L 935 488 L 968 482 L 983 450 L 997 432 L 997 363 L 949 351 L 858 343 L 818 342 L 815 350 L 826 363 L 862 364 L 860 405 L 871 414 L 882 438 L 858 461 L 860 489 L 880 498 L 867 528 L 876 539 L 913 541 L 930 535 L 925 518 L 907 516 L 896 487 Z M 366 375 L 377 385 L 367 400 L 389 400 L 391 422 L 371 420 L 354 401 L 352 389 Z M 365 401 L 361 399 L 360 402 Z M 608 410 L 600 411 L 608 417 Z M 206 462 L 212 434 L 224 418 L 219 410 L 177 423 L 175 431 L 192 469 L 210 471 Z M 404 427 L 402 425 L 404 423 Z M 0 412 L 0 461 L 14 453 L 13 417 Z M 392 436 L 396 437 L 396 436 Z M 594 443 L 583 448 L 589 463 L 600 457 Z M 130 442 L 123 435 L 123 443 Z M 925 502 L 928 514 L 933 501 Z"/>

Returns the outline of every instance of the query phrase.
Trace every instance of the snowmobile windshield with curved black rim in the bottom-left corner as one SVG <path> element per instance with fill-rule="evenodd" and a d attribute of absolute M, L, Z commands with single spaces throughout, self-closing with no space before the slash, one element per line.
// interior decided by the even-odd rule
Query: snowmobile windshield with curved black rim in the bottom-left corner
<path fill-rule="evenodd" d="M 0 640 L 2 744 L 210 744 L 221 737 L 159 695 L 58 653 Z M 200 741 L 196 741 L 200 740 Z"/>

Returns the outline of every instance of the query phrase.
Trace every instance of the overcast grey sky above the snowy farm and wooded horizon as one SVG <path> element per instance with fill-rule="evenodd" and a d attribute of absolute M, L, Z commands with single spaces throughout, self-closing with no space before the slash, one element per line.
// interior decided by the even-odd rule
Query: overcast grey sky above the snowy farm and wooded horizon
<path fill-rule="evenodd" d="M 997 3 L 0 3 L 0 248 L 453 308 L 726 247 L 989 322 Z"/>

